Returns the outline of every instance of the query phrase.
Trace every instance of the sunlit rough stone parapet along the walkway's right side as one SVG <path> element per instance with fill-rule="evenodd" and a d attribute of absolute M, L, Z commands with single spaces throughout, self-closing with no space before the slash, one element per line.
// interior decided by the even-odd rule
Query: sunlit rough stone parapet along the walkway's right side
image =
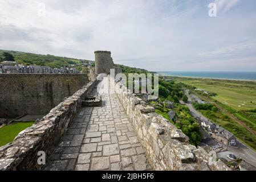
<path fill-rule="evenodd" d="M 221 160 L 212 162 L 203 148 L 189 144 L 181 130 L 120 83 L 115 92 L 156 170 L 229 170 Z"/>

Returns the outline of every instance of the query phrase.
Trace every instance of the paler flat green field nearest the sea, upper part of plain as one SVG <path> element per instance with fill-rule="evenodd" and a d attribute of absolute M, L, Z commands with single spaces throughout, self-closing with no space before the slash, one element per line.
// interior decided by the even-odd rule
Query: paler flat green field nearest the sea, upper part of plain
<path fill-rule="evenodd" d="M 256 103 L 256 82 L 254 81 L 186 77 L 174 77 L 174 80 L 217 93 L 217 96 L 212 98 L 235 110 L 256 109 L 256 104 L 251 103 L 251 101 Z"/>

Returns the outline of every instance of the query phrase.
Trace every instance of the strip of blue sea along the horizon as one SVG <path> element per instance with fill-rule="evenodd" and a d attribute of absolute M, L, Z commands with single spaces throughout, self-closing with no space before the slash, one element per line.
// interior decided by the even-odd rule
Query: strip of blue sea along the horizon
<path fill-rule="evenodd" d="M 221 78 L 232 80 L 253 80 L 256 81 L 256 72 L 158 72 L 163 76 L 198 77 L 198 78 Z"/>

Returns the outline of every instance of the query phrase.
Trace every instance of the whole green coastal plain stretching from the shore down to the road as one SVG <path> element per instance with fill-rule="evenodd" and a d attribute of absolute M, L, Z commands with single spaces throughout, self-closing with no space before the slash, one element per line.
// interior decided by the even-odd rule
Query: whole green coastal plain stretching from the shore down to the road
<path fill-rule="evenodd" d="M 198 97 L 212 102 L 223 110 L 216 112 L 212 117 L 205 111 L 200 110 L 200 112 L 256 150 L 256 82 L 188 77 L 172 77 L 172 79 L 189 85 L 191 90 L 194 86 L 216 93 L 216 96 L 207 96 L 202 92 L 193 91 Z M 230 115 L 227 116 L 225 112 Z"/>

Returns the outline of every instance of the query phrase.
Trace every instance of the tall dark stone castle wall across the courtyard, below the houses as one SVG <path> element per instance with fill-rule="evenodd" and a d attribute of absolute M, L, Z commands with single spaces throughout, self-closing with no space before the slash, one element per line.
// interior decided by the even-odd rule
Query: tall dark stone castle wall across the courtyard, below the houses
<path fill-rule="evenodd" d="M 0 118 L 46 114 L 88 82 L 86 74 L 0 74 Z"/>

